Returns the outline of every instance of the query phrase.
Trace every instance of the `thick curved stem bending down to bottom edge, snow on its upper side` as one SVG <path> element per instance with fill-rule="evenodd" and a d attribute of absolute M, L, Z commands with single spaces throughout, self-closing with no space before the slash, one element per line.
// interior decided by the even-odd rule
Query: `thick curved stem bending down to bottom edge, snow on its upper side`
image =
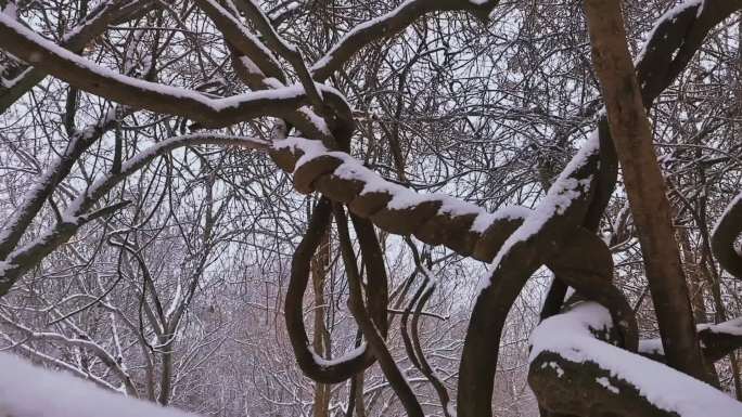
<path fill-rule="evenodd" d="M 491 415 L 497 353 L 510 307 L 533 273 L 562 250 L 581 224 L 597 181 L 599 155 L 594 133 L 492 262 L 489 283 L 476 299 L 466 331 L 459 367 L 459 416 Z"/>

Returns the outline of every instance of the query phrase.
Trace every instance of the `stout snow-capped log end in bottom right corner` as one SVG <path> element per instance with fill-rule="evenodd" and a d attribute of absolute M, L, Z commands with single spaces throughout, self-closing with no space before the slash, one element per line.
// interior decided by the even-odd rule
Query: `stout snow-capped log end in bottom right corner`
<path fill-rule="evenodd" d="M 611 329 L 606 309 L 581 302 L 534 330 L 528 381 L 542 406 L 575 415 L 742 415 L 742 403 L 714 387 L 599 338 Z"/>

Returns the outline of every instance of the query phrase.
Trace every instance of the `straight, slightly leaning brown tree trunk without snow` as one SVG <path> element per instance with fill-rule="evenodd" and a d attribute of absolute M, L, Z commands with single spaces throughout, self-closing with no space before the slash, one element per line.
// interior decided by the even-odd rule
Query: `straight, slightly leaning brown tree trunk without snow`
<path fill-rule="evenodd" d="M 621 5 L 616 0 L 586 0 L 585 9 L 593 64 L 623 167 L 667 362 L 706 380 L 666 186 L 626 44 Z"/>

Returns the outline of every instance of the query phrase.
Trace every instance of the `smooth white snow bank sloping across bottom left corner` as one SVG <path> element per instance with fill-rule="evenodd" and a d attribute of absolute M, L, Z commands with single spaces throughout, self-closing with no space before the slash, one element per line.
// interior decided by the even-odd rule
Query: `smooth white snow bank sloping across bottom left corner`
<path fill-rule="evenodd" d="M 0 353 L 0 415 L 13 417 L 195 417 L 126 398 Z"/>

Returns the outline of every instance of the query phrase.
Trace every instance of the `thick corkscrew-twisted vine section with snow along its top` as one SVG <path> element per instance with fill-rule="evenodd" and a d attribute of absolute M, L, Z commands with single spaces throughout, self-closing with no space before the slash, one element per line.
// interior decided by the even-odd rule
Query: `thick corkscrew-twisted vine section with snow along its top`
<path fill-rule="evenodd" d="M 278 141 L 271 157 L 293 173 L 294 187 L 300 193 L 318 191 L 389 233 L 414 235 L 482 261 L 491 261 L 530 213 L 520 206 L 490 213 L 444 194 L 417 193 L 384 180 L 346 153 L 328 151 L 319 141 Z"/>

